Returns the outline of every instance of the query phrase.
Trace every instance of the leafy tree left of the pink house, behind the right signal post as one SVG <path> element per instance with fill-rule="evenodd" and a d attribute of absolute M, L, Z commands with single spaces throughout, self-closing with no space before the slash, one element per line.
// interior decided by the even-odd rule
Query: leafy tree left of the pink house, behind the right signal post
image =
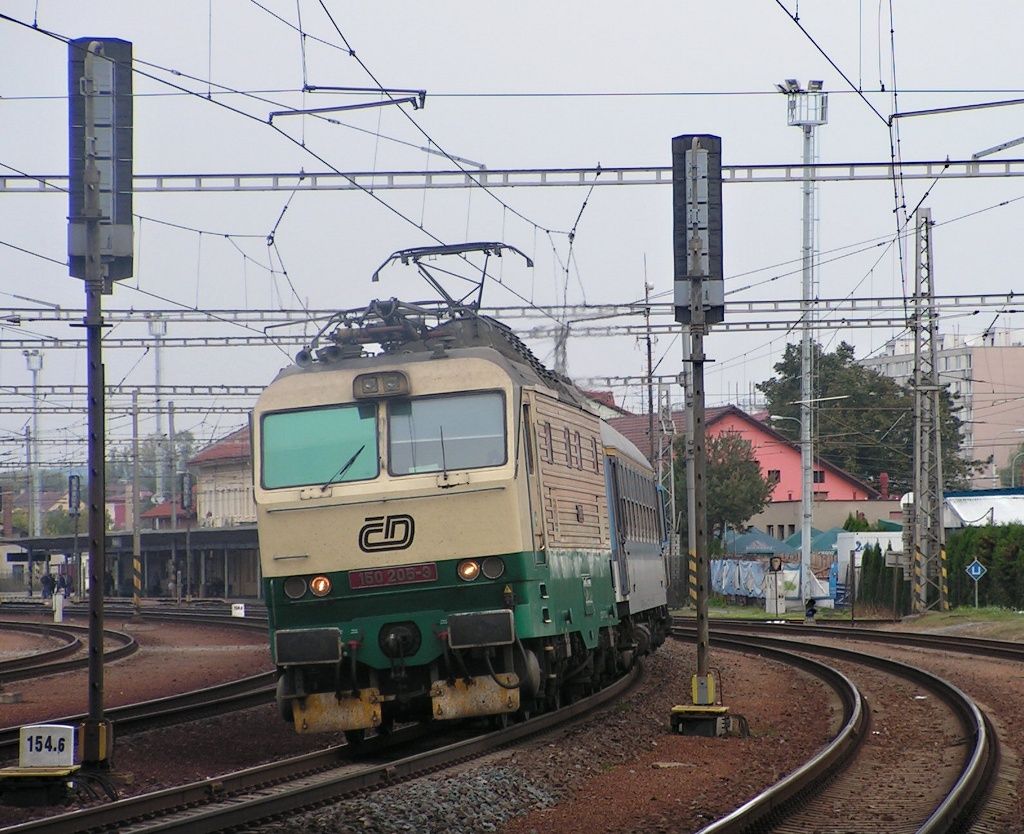
<path fill-rule="evenodd" d="M 677 442 L 676 495 L 686 500 L 686 463 L 683 439 Z M 734 431 L 710 435 L 707 439 L 708 530 L 721 539 L 728 527 L 740 527 L 752 515 L 761 512 L 771 498 L 774 482 L 761 474 L 761 465 L 754 456 L 750 441 Z M 686 535 L 687 518 L 683 514 L 682 535 Z"/>

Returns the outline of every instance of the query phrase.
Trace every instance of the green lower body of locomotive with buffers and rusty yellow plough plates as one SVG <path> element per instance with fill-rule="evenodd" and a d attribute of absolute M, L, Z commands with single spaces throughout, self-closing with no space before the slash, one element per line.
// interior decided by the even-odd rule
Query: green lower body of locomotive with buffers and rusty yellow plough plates
<path fill-rule="evenodd" d="M 607 642 L 618 623 L 610 553 L 500 558 L 500 577 L 469 582 L 457 572 L 464 559 L 437 561 L 431 581 L 359 589 L 349 572 L 329 572 L 326 595 L 298 599 L 285 595 L 286 578 L 264 579 L 282 715 L 298 732 L 358 731 L 550 698 L 556 667 Z"/>

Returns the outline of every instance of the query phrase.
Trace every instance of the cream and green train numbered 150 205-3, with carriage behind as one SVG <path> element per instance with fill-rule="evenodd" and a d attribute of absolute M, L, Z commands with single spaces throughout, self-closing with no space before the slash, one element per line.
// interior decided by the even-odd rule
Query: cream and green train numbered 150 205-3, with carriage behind
<path fill-rule="evenodd" d="M 501 723 L 664 640 L 663 493 L 568 380 L 451 304 L 375 301 L 325 343 L 252 417 L 278 704 L 297 732 Z"/>

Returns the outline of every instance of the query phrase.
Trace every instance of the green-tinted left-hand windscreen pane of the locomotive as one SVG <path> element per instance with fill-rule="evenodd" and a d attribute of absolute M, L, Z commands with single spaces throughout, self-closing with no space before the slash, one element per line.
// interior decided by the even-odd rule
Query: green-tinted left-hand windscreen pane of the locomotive
<path fill-rule="evenodd" d="M 368 481 L 380 473 L 377 406 L 360 403 L 264 414 L 264 489 Z"/>

